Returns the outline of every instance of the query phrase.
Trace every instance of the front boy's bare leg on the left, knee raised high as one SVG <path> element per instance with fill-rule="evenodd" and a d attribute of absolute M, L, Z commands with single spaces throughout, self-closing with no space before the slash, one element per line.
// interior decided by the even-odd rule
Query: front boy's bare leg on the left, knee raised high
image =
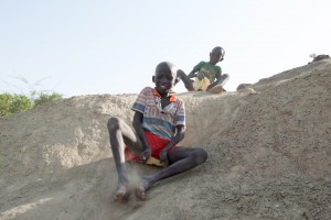
<path fill-rule="evenodd" d="M 132 129 L 119 118 L 110 118 L 107 123 L 110 146 L 117 169 L 118 183 L 114 200 L 127 200 L 129 196 L 129 179 L 125 163 L 125 143 L 129 146 L 142 146 Z"/>

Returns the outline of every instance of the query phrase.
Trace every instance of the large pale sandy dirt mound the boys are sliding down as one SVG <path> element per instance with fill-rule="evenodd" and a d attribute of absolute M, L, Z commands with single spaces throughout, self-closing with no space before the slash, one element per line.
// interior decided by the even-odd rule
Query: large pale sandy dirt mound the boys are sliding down
<path fill-rule="evenodd" d="M 238 92 L 186 92 L 182 145 L 205 164 L 111 202 L 106 122 L 136 95 L 82 96 L 0 119 L 0 219 L 331 219 L 331 59 Z M 132 183 L 156 167 L 129 164 Z M 134 184 L 132 184 L 134 185 Z"/>

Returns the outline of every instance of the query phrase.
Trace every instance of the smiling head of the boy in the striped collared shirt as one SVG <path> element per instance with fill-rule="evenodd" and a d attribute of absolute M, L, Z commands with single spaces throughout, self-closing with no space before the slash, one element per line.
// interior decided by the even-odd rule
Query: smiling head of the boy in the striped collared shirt
<path fill-rule="evenodd" d="M 178 80 L 175 66 L 170 62 L 160 63 L 156 68 L 152 80 L 160 95 L 168 94 Z"/>

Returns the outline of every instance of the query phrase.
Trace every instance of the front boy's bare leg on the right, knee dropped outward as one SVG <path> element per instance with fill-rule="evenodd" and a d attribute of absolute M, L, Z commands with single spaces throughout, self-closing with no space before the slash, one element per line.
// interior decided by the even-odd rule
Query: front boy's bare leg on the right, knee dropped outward
<path fill-rule="evenodd" d="M 170 166 L 161 169 L 154 175 L 142 177 L 140 184 L 136 188 L 136 195 L 139 199 L 143 200 L 146 198 L 146 191 L 150 189 L 154 183 L 181 174 L 204 163 L 207 158 L 207 153 L 200 147 L 190 148 L 178 146 L 169 153 L 168 157 Z"/>

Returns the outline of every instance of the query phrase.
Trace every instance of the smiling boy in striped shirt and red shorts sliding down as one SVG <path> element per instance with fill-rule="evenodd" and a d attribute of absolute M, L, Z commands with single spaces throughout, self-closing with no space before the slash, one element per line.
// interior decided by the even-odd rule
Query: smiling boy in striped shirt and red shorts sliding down
<path fill-rule="evenodd" d="M 158 173 L 143 176 L 136 187 L 136 196 L 143 200 L 146 191 L 154 183 L 186 172 L 207 158 L 207 153 L 202 147 L 177 146 L 185 134 L 185 108 L 181 99 L 169 94 L 177 80 L 173 64 L 160 63 L 152 79 L 156 87 L 143 88 L 132 106 L 134 129 L 122 119 L 113 117 L 108 120 L 118 174 L 115 200 L 127 200 L 130 194 L 126 160 L 146 163 L 152 156 L 166 165 Z"/>

